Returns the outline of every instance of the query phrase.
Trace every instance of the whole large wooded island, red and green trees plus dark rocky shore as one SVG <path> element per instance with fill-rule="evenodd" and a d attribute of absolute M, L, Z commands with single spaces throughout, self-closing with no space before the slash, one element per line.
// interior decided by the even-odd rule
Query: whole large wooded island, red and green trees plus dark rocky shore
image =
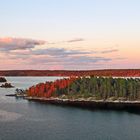
<path fill-rule="evenodd" d="M 39 83 L 26 90 L 25 99 L 57 105 L 100 109 L 140 109 L 140 79 L 70 77 Z"/>

